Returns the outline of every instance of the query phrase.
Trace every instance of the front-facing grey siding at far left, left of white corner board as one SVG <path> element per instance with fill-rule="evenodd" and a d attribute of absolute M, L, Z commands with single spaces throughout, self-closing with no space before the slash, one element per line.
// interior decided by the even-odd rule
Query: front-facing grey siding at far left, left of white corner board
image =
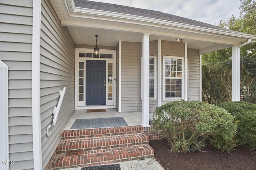
<path fill-rule="evenodd" d="M 9 67 L 10 170 L 33 169 L 32 0 L 1 0 L 0 60 Z"/>

